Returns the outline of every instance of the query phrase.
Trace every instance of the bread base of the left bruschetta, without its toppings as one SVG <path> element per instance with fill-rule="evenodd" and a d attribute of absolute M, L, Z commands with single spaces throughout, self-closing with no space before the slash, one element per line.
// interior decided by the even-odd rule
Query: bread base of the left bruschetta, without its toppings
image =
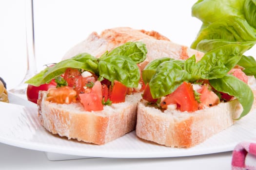
<path fill-rule="evenodd" d="M 104 110 L 95 112 L 84 111 L 80 103 L 48 102 L 46 95 L 46 91 L 39 92 L 39 119 L 53 134 L 102 145 L 135 130 L 140 93 L 128 95 L 125 102 L 104 106 Z"/>

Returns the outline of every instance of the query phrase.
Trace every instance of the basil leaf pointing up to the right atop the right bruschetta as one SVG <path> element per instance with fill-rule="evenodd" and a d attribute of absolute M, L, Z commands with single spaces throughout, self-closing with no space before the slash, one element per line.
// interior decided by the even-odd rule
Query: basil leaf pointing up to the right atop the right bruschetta
<path fill-rule="evenodd" d="M 242 53 L 248 48 L 250 47 L 228 44 L 205 53 L 193 67 L 186 68 L 192 75 L 191 81 L 223 77 L 231 68 L 234 68 L 241 59 Z"/>

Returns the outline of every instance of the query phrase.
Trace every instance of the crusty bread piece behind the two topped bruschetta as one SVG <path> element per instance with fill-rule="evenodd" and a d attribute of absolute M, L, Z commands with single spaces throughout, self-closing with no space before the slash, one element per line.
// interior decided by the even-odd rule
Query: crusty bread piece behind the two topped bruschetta
<path fill-rule="evenodd" d="M 179 60 L 187 59 L 195 54 L 197 60 L 200 60 L 204 55 L 203 52 L 172 42 L 156 31 L 118 27 L 104 30 L 101 34 L 93 32 L 84 41 L 67 51 L 62 59 L 71 58 L 82 52 L 100 57 L 105 51 L 111 51 L 129 41 L 142 41 L 146 44 L 148 49 L 147 58 L 144 62 L 140 63 L 141 68 L 144 68 L 154 59 L 161 57 L 170 57 Z"/>

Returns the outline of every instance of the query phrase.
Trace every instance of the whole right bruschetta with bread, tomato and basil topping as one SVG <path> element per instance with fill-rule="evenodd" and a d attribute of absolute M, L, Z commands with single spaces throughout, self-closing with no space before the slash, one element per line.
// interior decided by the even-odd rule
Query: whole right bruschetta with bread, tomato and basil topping
<path fill-rule="evenodd" d="M 189 148 L 233 125 L 256 106 L 256 80 L 236 66 L 249 46 L 226 45 L 196 62 L 161 58 L 142 71 L 136 134 Z"/>

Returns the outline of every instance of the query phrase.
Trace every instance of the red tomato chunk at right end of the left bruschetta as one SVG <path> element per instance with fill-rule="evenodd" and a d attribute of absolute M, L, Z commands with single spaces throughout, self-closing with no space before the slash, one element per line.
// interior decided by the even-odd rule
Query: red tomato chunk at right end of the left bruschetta
<path fill-rule="evenodd" d="M 112 103 L 125 102 L 127 90 L 128 88 L 125 85 L 115 80 L 109 96 L 110 101 Z"/>

